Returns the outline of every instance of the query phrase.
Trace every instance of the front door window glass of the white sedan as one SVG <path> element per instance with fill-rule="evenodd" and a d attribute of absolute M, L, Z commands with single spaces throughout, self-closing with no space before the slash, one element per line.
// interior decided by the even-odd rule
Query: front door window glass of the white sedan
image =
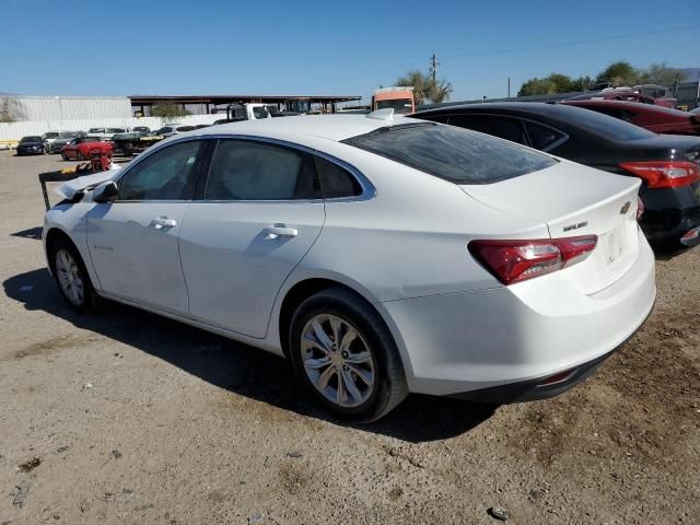
<path fill-rule="evenodd" d="M 163 148 L 119 178 L 118 200 L 188 200 L 197 177 L 200 140 Z"/>

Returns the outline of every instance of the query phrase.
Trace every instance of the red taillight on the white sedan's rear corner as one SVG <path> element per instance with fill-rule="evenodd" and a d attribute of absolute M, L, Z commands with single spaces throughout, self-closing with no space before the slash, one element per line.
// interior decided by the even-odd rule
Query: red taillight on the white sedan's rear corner
<path fill-rule="evenodd" d="M 584 260 L 596 235 L 535 241 L 471 241 L 469 253 L 503 284 L 533 279 Z"/>

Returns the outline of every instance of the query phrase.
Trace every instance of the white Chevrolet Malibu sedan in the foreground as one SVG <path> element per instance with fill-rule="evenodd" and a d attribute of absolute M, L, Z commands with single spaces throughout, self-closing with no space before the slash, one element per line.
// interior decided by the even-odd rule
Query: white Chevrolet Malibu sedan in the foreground
<path fill-rule="evenodd" d="M 46 213 L 68 302 L 284 355 L 340 417 L 556 395 L 655 299 L 638 178 L 390 110 L 199 129 L 113 173 Z"/>

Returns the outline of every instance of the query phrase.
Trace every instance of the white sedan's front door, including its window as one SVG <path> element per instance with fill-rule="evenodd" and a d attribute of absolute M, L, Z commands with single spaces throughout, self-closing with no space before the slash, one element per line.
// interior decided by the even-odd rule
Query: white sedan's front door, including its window
<path fill-rule="evenodd" d="M 160 149 L 117 179 L 114 202 L 88 213 L 88 245 L 102 289 L 187 315 L 178 234 L 198 176 L 203 142 Z"/>

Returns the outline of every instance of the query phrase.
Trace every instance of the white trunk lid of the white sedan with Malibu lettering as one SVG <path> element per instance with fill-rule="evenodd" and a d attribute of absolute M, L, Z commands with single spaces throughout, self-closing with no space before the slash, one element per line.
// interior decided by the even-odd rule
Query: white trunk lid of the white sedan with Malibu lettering
<path fill-rule="evenodd" d="M 593 294 L 621 278 L 637 260 L 640 184 L 635 177 L 562 160 L 521 177 L 460 188 L 515 220 L 545 223 L 552 238 L 597 235 L 598 244 L 591 256 L 562 270 L 581 291 Z"/>

